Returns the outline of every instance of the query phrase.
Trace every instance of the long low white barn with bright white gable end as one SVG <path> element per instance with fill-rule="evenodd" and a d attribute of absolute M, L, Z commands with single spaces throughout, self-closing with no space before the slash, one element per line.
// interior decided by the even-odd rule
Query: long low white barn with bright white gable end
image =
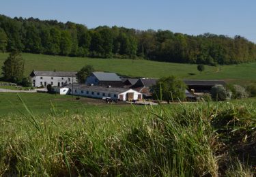
<path fill-rule="evenodd" d="M 73 88 L 73 90 L 72 90 Z M 62 90 L 61 90 L 62 89 Z M 85 97 L 94 97 L 100 98 L 103 97 L 110 97 L 111 99 L 118 99 L 122 101 L 130 101 L 130 100 L 137 100 L 142 99 L 142 94 L 134 91 L 130 88 L 117 88 L 111 86 L 88 86 L 86 84 L 73 84 L 65 86 L 59 89 L 60 91 L 64 91 L 68 89 L 69 94 L 73 95 L 80 95 Z M 67 93 L 67 94 L 68 94 Z"/>

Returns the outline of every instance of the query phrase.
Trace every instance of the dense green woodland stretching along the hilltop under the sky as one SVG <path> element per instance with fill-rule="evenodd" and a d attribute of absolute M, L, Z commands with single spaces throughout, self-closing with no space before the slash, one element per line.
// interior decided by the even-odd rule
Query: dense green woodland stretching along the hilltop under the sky
<path fill-rule="evenodd" d="M 0 15 L 0 50 L 70 57 L 143 58 L 209 65 L 256 61 L 256 45 L 244 37 L 97 27 Z"/>

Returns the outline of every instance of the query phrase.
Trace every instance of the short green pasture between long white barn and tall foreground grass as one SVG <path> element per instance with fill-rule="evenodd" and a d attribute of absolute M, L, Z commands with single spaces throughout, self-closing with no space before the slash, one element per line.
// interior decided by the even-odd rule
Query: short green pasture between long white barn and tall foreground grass
<path fill-rule="evenodd" d="M 35 114 L 51 113 L 53 107 L 60 112 L 74 113 L 83 110 L 100 109 L 124 109 L 129 105 L 119 106 L 115 103 L 106 104 L 100 99 L 89 99 L 81 97 L 76 100 L 72 99 L 71 95 L 55 95 L 48 93 L 18 93 L 23 99 L 27 107 Z M 53 106 L 52 106 L 53 104 Z M 18 99 L 17 93 L 0 93 L 0 116 L 5 114 L 16 114 L 19 112 L 26 112 Z"/>

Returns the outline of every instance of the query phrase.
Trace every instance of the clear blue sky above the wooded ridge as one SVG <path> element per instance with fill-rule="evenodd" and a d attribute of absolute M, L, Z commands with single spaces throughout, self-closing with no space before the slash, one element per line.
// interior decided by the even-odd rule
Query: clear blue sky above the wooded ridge
<path fill-rule="evenodd" d="M 0 14 L 199 35 L 242 35 L 256 43 L 255 0 L 1 0 Z"/>

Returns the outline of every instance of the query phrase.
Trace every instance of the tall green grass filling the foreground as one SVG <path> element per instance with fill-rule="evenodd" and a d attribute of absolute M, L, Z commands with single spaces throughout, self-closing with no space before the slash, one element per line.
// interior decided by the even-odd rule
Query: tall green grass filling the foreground
<path fill-rule="evenodd" d="M 0 176 L 253 174 L 253 150 L 240 152 L 255 143 L 255 115 L 197 103 L 1 117 Z"/>

